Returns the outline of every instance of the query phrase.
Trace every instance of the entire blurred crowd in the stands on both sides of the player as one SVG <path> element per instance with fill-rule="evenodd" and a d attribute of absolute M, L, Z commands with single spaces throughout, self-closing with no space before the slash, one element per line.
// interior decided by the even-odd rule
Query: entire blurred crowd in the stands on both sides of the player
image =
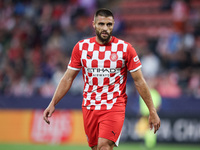
<path fill-rule="evenodd" d="M 147 82 L 154 81 L 163 97 L 200 98 L 200 11 L 178 2 L 168 8 L 174 23 L 155 27 L 152 36 L 134 47 L 140 48 Z M 73 46 L 95 35 L 93 14 L 107 5 L 106 0 L 0 0 L 0 95 L 51 97 Z M 123 18 L 116 20 L 118 27 L 120 21 Z M 115 28 L 117 33 L 123 39 L 123 28 Z M 80 87 L 81 74 L 71 94 L 80 94 Z"/>

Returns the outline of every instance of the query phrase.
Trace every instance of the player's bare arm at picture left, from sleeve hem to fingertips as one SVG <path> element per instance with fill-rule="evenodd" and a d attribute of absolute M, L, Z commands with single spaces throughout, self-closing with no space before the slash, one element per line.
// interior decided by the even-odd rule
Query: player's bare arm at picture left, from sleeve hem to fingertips
<path fill-rule="evenodd" d="M 44 120 L 50 124 L 50 121 L 48 117 L 51 117 L 52 113 L 55 110 L 55 105 L 65 96 L 65 94 L 69 91 L 72 82 L 74 78 L 77 76 L 79 73 L 79 70 L 72 70 L 72 69 L 67 69 L 63 77 L 61 78 L 56 91 L 54 93 L 54 96 L 49 103 L 49 106 L 45 109 L 43 113 L 43 118 Z"/>

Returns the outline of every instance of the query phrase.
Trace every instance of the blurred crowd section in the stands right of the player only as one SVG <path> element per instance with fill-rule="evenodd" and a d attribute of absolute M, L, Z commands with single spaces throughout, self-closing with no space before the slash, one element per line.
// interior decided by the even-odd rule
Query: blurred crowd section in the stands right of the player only
<path fill-rule="evenodd" d="M 163 97 L 200 98 L 200 11 L 189 0 L 168 2 L 161 11 L 172 22 L 151 28 L 141 44 L 143 73 Z"/>

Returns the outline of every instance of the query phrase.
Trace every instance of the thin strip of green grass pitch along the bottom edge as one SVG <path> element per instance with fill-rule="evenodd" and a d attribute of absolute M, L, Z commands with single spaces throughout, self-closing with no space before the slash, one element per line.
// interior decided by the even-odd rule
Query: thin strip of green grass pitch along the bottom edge
<path fill-rule="evenodd" d="M 90 150 L 87 145 L 0 144 L 0 150 Z M 158 144 L 151 150 L 200 150 L 200 145 Z M 122 143 L 114 150 L 148 150 L 142 144 Z"/>

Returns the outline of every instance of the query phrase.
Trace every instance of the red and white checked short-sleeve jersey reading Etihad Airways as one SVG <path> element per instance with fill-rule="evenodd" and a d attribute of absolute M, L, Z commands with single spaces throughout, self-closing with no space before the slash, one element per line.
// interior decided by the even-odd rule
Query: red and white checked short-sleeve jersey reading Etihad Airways
<path fill-rule="evenodd" d="M 112 37 L 109 43 L 101 45 L 92 37 L 75 45 L 68 68 L 82 69 L 82 107 L 109 110 L 126 105 L 127 70 L 138 70 L 141 62 L 129 43 Z"/>

